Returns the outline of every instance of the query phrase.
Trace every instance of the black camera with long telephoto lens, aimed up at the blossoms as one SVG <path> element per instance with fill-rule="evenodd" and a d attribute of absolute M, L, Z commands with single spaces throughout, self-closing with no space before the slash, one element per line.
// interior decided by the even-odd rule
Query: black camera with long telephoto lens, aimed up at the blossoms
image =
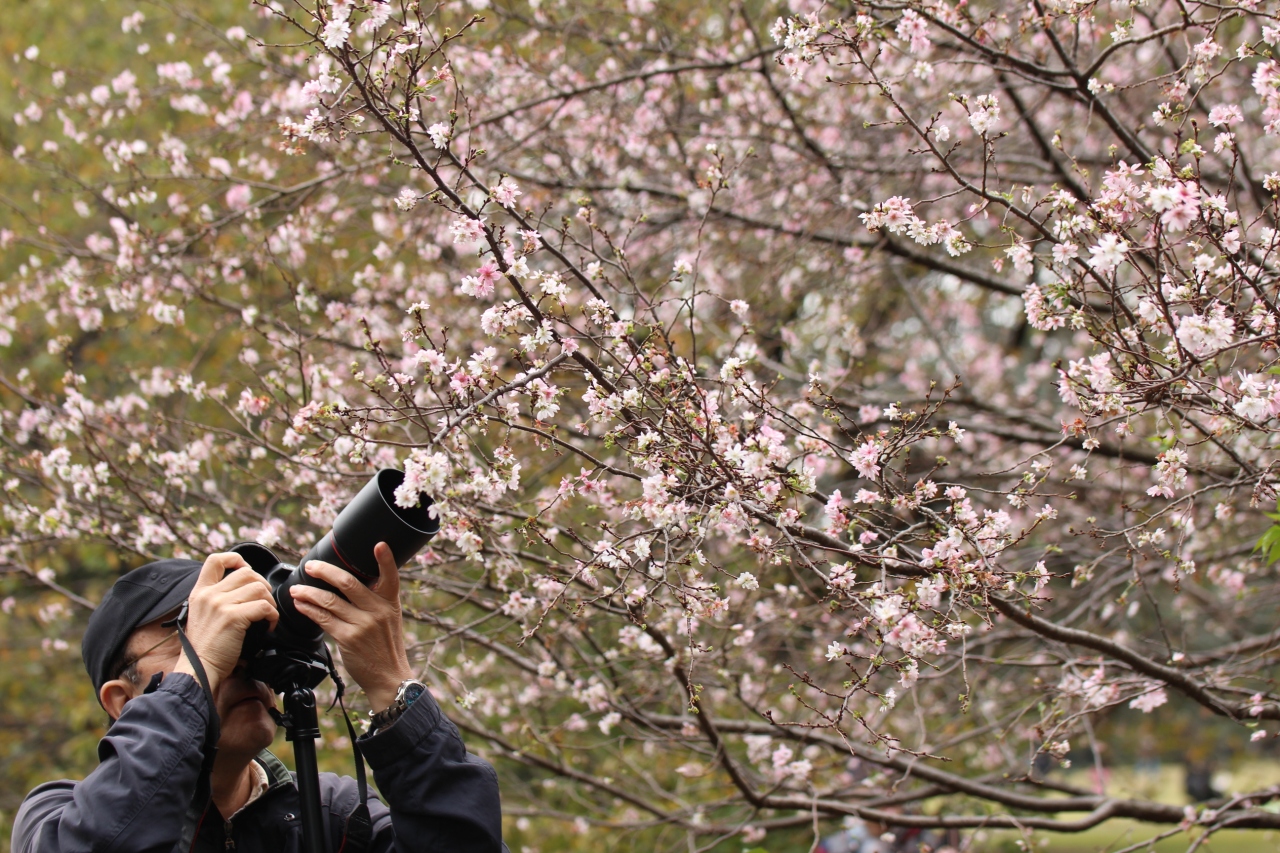
<path fill-rule="evenodd" d="M 244 635 L 241 657 L 248 663 L 248 678 L 264 681 L 276 693 L 292 685 L 314 688 L 328 675 L 324 631 L 298 612 L 289 589 L 297 584 L 328 589 L 342 594 L 332 584 L 310 576 L 305 566 L 323 560 L 355 575 L 366 587 L 378 580 L 374 546 L 390 546 L 399 569 L 426 547 L 440 529 L 433 517 L 431 498 L 420 496 L 415 507 L 396 503 L 396 489 L 404 483 L 404 473 L 384 467 L 343 507 L 333 529 L 315 543 L 294 566 L 282 562 L 266 546 L 243 542 L 232 548 L 253 571 L 271 585 L 271 596 L 280 619 L 275 630 L 268 622 L 256 622 Z"/>

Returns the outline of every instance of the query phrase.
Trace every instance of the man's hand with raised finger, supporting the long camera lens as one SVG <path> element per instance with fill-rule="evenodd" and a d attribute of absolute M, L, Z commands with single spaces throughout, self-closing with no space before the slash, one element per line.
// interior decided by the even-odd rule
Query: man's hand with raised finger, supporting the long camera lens
<path fill-rule="evenodd" d="M 374 711 L 390 707 L 401 681 L 413 678 L 404 653 L 401 626 L 399 571 L 385 542 L 374 548 L 379 578 L 372 589 L 338 566 L 312 560 L 308 575 L 333 584 L 342 597 L 303 584 L 289 588 L 298 612 L 338 643 L 342 662 L 365 693 Z"/>

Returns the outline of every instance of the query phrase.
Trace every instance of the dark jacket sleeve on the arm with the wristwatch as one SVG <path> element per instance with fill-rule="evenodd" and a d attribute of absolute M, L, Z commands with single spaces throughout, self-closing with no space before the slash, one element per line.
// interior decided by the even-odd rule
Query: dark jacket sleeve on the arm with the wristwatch
<path fill-rule="evenodd" d="M 498 774 L 422 693 L 388 729 L 360 739 L 383 803 L 370 798 L 381 853 L 500 853 Z M 389 808 L 389 812 L 388 812 Z"/>

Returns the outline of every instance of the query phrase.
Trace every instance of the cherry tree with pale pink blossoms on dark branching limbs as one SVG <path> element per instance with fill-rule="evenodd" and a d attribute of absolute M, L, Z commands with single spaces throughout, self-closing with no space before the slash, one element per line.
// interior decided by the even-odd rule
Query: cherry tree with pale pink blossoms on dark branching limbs
<path fill-rule="evenodd" d="M 397 466 L 416 660 L 521 821 L 1280 827 L 1048 772 L 1276 734 L 1266 4 L 147 15 L 106 77 L 18 64 L 28 589 L 297 556 Z"/>

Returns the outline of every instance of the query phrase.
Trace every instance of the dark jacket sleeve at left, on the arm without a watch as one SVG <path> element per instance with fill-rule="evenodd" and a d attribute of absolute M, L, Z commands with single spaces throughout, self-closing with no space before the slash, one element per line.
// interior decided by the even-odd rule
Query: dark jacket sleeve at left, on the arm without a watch
<path fill-rule="evenodd" d="M 131 699 L 83 781 L 41 785 L 13 825 L 13 853 L 170 853 L 202 761 L 209 711 L 200 685 L 169 675 Z"/>

